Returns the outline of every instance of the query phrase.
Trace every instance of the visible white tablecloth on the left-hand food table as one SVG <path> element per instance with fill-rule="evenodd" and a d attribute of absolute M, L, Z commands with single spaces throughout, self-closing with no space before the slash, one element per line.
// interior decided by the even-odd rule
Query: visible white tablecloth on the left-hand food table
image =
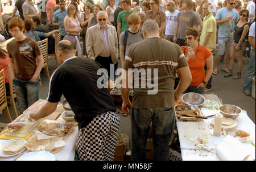
<path fill-rule="evenodd" d="M 65 139 L 65 147 L 60 151 L 54 154 L 56 160 L 59 161 L 73 161 L 75 158 L 75 149 L 76 149 L 76 141 L 78 135 L 78 127 L 76 126 L 73 132 Z M 5 143 L 6 140 L 1 140 L 0 143 Z M 23 154 L 28 151 L 24 151 Z M 0 157 L 0 161 L 12 161 L 16 156 L 12 157 Z"/>

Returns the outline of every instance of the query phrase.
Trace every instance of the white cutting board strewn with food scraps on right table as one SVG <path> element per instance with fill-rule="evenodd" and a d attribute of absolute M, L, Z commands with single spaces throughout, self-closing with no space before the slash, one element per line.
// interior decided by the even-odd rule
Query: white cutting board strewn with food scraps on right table
<path fill-rule="evenodd" d="M 198 138 L 205 141 L 205 146 L 215 148 L 213 136 L 209 132 L 209 124 L 204 122 L 177 122 L 180 148 L 181 149 L 200 149 L 195 144 Z M 192 140 L 193 141 L 192 141 Z"/>

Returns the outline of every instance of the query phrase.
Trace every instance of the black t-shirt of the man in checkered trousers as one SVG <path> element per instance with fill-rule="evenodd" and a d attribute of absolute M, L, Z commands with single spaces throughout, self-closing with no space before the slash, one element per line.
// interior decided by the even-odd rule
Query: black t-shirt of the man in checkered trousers
<path fill-rule="evenodd" d="M 49 85 L 49 102 L 67 99 L 79 128 L 86 127 L 98 114 L 115 111 L 114 100 L 107 88 L 98 88 L 97 70 L 100 63 L 75 57 L 64 62 L 53 72 Z"/>

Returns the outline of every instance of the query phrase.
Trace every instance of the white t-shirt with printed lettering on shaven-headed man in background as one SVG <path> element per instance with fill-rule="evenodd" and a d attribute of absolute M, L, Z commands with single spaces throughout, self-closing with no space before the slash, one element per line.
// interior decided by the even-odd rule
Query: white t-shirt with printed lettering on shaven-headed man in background
<path fill-rule="evenodd" d="M 166 11 L 166 35 L 174 35 L 175 26 L 177 23 L 177 14 L 179 11 L 174 12 Z"/>

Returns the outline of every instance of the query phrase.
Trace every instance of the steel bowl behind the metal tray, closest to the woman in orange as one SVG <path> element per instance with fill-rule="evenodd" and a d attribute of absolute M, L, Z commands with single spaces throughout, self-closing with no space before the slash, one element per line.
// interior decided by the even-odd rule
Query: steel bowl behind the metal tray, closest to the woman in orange
<path fill-rule="evenodd" d="M 199 93 L 185 93 L 181 100 L 187 105 L 201 106 L 205 102 L 204 96 Z"/>

